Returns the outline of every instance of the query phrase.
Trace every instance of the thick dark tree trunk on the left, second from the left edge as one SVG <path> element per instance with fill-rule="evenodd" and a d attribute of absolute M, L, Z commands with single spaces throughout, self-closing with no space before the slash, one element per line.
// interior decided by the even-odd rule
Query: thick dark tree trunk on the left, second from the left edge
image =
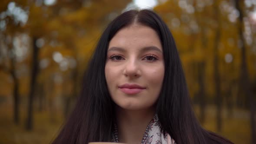
<path fill-rule="evenodd" d="M 26 119 L 26 130 L 33 129 L 33 99 L 35 95 L 36 77 L 38 71 L 38 53 L 39 48 L 36 46 L 36 38 L 33 38 L 33 60 L 31 66 L 31 82 L 30 82 L 30 93 L 28 101 L 28 113 Z"/>

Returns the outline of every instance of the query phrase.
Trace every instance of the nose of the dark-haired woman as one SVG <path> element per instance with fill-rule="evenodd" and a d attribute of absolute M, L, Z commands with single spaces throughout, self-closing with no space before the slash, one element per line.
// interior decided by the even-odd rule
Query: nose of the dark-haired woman
<path fill-rule="evenodd" d="M 128 60 L 125 65 L 124 75 L 126 77 L 131 78 L 141 76 L 141 71 L 138 62 L 136 62 L 135 60 Z"/>

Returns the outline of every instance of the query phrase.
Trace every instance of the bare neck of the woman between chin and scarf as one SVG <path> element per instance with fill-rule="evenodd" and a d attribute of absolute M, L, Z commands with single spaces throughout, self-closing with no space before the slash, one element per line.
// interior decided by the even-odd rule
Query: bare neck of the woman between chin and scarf
<path fill-rule="evenodd" d="M 146 110 L 125 110 L 116 108 L 119 142 L 141 144 L 143 134 L 154 117 L 155 108 Z"/>

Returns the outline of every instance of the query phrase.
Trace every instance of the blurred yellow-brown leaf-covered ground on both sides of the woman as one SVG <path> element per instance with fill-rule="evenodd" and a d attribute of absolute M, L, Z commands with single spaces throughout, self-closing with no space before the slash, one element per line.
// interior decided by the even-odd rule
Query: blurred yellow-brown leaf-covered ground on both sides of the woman
<path fill-rule="evenodd" d="M 198 107 L 195 106 L 198 114 Z M 215 107 L 207 106 L 206 121 L 203 127 L 216 132 Z M 228 138 L 235 144 L 250 144 L 249 111 L 234 109 L 233 117 L 228 118 L 223 109 L 223 127 L 218 134 Z M 36 112 L 34 128 L 25 130 L 26 111 L 21 110 L 20 124 L 13 123 L 12 108 L 0 106 L 0 144 L 49 144 L 59 132 L 63 123 L 62 113 L 50 115 L 47 111 Z"/>

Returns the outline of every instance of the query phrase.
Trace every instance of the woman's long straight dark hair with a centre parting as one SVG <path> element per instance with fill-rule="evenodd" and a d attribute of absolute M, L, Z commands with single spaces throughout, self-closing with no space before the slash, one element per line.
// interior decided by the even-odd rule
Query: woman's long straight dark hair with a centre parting
<path fill-rule="evenodd" d="M 164 54 L 164 81 L 157 114 L 164 130 L 177 144 L 231 143 L 204 130 L 195 117 L 174 38 L 164 21 L 152 10 L 129 10 L 115 18 L 103 32 L 83 80 L 82 94 L 53 144 L 87 144 L 111 141 L 115 103 L 105 79 L 109 41 L 121 28 L 138 23 L 154 29 Z"/>

